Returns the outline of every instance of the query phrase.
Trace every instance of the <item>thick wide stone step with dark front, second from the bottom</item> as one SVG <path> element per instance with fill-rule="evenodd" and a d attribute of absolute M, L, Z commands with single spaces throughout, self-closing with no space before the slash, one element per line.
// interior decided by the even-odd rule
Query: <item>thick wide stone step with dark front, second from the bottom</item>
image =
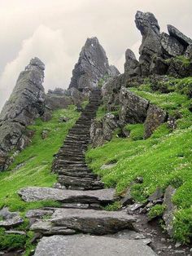
<path fill-rule="evenodd" d="M 62 227 L 75 230 L 76 232 L 94 235 L 113 234 L 124 229 L 133 230 L 136 218 L 125 211 L 106 210 L 83 210 L 83 209 L 56 209 L 49 219 L 44 222 L 33 223 L 30 229 L 33 232 L 44 233 L 43 224 L 50 225 L 51 230 Z M 55 233 L 54 233 L 55 234 Z"/>

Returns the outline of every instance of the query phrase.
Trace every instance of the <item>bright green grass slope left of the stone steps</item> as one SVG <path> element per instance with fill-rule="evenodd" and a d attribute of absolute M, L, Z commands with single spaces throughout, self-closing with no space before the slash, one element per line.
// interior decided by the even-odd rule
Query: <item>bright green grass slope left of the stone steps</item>
<path fill-rule="evenodd" d="M 70 106 L 55 111 L 50 121 L 37 119 L 33 126 L 28 127 L 35 131 L 32 142 L 15 157 L 8 171 L 0 173 L 0 209 L 9 206 L 12 211 L 24 212 L 41 206 L 58 205 L 53 201 L 25 203 L 17 191 L 28 186 L 51 187 L 56 182 L 56 175 L 50 172 L 53 155 L 58 152 L 79 115 L 76 107 Z M 59 117 L 68 117 L 69 121 L 59 122 Z M 41 138 L 43 130 L 48 131 L 46 139 Z"/>

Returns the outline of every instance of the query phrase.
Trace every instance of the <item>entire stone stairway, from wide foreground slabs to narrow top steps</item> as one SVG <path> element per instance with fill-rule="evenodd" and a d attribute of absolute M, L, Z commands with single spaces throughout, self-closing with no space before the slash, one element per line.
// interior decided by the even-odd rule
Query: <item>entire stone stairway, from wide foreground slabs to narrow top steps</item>
<path fill-rule="evenodd" d="M 94 90 L 56 154 L 53 170 L 59 174 L 57 188 L 31 187 L 19 192 L 24 201 L 61 202 L 60 208 L 45 207 L 26 214 L 30 229 L 41 238 L 35 256 L 155 255 L 143 237 L 135 239 L 133 215 L 125 210 L 103 210 L 116 201 L 116 192 L 105 189 L 85 163 L 89 129 L 100 102 L 100 90 Z"/>

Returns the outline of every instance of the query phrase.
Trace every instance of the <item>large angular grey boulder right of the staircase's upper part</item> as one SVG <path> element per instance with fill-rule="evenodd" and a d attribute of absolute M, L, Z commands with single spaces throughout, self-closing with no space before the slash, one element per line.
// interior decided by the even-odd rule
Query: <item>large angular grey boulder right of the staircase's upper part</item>
<path fill-rule="evenodd" d="M 149 102 L 122 87 L 120 89 L 120 123 L 136 124 L 146 120 Z"/>

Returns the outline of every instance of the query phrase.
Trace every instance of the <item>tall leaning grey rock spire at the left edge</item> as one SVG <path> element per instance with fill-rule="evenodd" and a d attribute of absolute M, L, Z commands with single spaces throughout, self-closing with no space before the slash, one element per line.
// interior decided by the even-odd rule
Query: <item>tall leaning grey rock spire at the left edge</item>
<path fill-rule="evenodd" d="M 29 141 L 26 126 L 46 112 L 42 86 L 45 65 L 38 58 L 30 61 L 16 82 L 10 99 L 0 114 L 0 170 L 6 168 L 7 153 L 23 149 Z"/>

